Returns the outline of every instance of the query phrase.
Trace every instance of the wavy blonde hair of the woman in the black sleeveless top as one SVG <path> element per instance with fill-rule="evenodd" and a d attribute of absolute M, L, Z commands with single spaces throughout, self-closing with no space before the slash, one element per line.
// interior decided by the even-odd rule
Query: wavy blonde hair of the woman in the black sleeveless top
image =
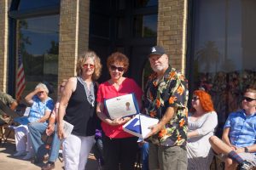
<path fill-rule="evenodd" d="M 81 76 L 83 71 L 83 65 L 86 62 L 87 59 L 93 59 L 94 60 L 94 72 L 92 74 L 92 80 L 96 81 L 102 73 L 102 64 L 101 59 L 96 55 L 94 51 L 87 51 L 79 55 L 79 61 L 77 64 L 77 75 Z"/>

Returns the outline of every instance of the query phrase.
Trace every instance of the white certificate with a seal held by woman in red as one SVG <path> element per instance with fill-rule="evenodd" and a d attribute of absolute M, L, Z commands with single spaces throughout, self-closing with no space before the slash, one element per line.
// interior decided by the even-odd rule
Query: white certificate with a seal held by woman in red
<path fill-rule="evenodd" d="M 139 113 L 137 99 L 134 94 L 125 94 L 112 99 L 106 99 L 104 105 L 111 119 L 132 116 Z"/>

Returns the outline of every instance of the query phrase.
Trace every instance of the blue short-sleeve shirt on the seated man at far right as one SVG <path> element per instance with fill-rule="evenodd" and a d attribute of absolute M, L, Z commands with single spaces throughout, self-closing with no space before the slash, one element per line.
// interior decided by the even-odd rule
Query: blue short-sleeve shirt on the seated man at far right
<path fill-rule="evenodd" d="M 230 113 L 224 128 L 230 127 L 230 143 L 238 147 L 255 144 L 256 114 L 247 116 L 244 110 Z"/>

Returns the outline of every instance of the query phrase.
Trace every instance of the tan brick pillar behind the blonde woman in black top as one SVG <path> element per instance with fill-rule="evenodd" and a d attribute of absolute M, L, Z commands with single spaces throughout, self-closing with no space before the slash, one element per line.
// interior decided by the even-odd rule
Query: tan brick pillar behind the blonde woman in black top
<path fill-rule="evenodd" d="M 89 45 L 90 0 L 62 0 L 58 82 L 76 75 L 76 63 Z"/>

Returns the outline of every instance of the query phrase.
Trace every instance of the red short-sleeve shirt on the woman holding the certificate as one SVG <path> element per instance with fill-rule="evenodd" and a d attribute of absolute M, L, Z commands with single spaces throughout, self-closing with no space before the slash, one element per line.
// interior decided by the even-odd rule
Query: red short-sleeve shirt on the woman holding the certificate
<path fill-rule="evenodd" d="M 118 90 L 114 88 L 113 85 L 111 85 L 109 82 L 103 82 L 98 88 L 96 101 L 99 103 L 104 103 L 104 99 L 111 99 L 131 93 L 135 94 L 137 101 L 142 100 L 143 91 L 131 78 L 125 78 L 125 80 L 120 84 Z M 106 114 L 105 109 L 104 113 Z M 102 122 L 102 130 L 109 138 L 131 137 L 132 135 L 130 133 L 125 133 L 122 126 L 123 125 L 111 126 L 106 122 Z"/>

